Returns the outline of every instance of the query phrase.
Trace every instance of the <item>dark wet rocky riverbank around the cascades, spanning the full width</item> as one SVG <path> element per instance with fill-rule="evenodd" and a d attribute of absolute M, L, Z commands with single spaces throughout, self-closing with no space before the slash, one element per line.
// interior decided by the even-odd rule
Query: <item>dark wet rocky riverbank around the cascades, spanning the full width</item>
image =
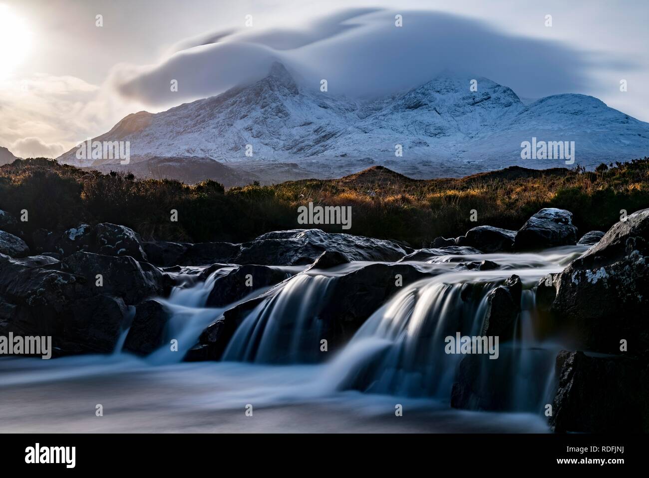
<path fill-rule="evenodd" d="M 309 320 L 318 321 L 319 336 L 333 351 L 401 287 L 439 275 L 436 260 L 452 262 L 457 271 L 486 272 L 504 268 L 498 254 L 576 244 L 591 247 L 560 273 L 532 286 L 517 275 L 496 284 L 485 298 L 480 333 L 515 341 L 522 296 L 533 294 L 535 327 L 567 347 L 549 358 L 556 362 L 556 392 L 546 413 L 552 428 L 649 431 L 649 327 L 643 313 L 649 301 L 649 210 L 631 214 L 606 234 L 578 234 L 569 211 L 545 208 L 519 231 L 483 225 L 456 238 L 435 238 L 424 249 L 317 229 L 277 231 L 242 244 L 147 242 L 110 223 L 27 237 L 16 218 L 0 212 L 0 335 L 52 336 L 56 356 L 112 353 L 121 340 L 123 350 L 146 356 L 167 340 L 171 314 L 160 298 L 204 283 L 206 307 L 222 313 L 195 343 L 184 344 L 185 360 L 219 360 L 252 310 L 282 300 L 283 290 L 317 275 L 327 280 L 324 296 L 295 300 L 321 301 L 318 316 Z M 493 260 L 475 260 L 483 253 Z M 465 284 L 461 299 L 470 303 L 481 290 L 480 284 Z M 277 344 L 295 340 L 291 331 L 276 334 Z M 312 349 L 295 357 L 319 360 Z M 506 353 L 499 360 L 463 359 L 452 407 L 502 410 L 502 377 L 511 360 L 515 356 Z"/>

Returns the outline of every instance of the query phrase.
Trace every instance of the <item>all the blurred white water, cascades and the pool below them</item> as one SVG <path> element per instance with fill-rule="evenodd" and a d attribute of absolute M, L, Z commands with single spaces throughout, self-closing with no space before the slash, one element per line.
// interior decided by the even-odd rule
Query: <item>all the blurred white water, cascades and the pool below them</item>
<path fill-rule="evenodd" d="M 522 297 L 515 340 L 500 346 L 501 359 L 512 365 L 512 413 L 449 409 L 462 356 L 445 355 L 443 337 L 478 334 L 487 292 L 512 273 L 530 286 L 584 250 L 461 257 L 493 260 L 503 268 L 496 271 L 454 271 L 457 257 L 417 263 L 445 273 L 404 286 L 323 364 L 299 363 L 320 331 L 314 314 L 336 275 L 362 264 L 300 273 L 241 323 L 224 357 L 236 362 L 178 363 L 225 310 L 204 307 L 223 273 L 217 271 L 160 299 L 172 312 L 165 340 L 177 338 L 178 352 L 165 345 L 145 359 L 116 353 L 0 360 L 0 431 L 545 431 L 541 407 L 554 387 L 554 361 L 546 360 L 554 356 L 546 351 L 558 345 L 536 340 L 531 291 Z M 462 301 L 465 283 L 491 285 L 478 301 Z M 275 347 L 284 347 L 282 361 L 293 364 L 264 364 L 275 360 Z M 107 420 L 95 417 L 97 403 Z M 397 403 L 405 411 L 395 421 Z M 246 421 L 247 404 L 264 420 Z"/>

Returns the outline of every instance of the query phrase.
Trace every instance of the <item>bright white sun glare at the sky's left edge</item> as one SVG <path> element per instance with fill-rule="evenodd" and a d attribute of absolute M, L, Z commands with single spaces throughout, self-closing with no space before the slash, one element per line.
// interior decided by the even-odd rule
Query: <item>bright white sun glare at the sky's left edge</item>
<path fill-rule="evenodd" d="M 0 4 L 0 79 L 25 60 L 30 45 L 31 32 L 25 20 L 9 6 Z"/>

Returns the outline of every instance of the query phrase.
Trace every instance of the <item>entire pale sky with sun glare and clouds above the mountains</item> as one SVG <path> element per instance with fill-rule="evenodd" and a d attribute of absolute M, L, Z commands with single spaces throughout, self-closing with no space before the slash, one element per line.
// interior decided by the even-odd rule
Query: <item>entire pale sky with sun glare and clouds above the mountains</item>
<path fill-rule="evenodd" d="M 0 0 L 0 146 L 57 157 L 129 113 L 219 94 L 275 60 L 348 97 L 450 70 L 527 99 L 593 95 L 649 121 L 647 18 L 646 0 Z"/>

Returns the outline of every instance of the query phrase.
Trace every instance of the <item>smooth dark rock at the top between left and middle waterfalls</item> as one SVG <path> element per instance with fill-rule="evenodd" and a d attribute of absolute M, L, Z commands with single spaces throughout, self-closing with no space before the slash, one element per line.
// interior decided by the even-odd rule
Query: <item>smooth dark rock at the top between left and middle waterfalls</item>
<path fill-rule="evenodd" d="M 220 275 L 207 298 L 207 307 L 224 307 L 243 299 L 254 290 L 278 284 L 290 274 L 273 267 L 245 265 Z"/>

